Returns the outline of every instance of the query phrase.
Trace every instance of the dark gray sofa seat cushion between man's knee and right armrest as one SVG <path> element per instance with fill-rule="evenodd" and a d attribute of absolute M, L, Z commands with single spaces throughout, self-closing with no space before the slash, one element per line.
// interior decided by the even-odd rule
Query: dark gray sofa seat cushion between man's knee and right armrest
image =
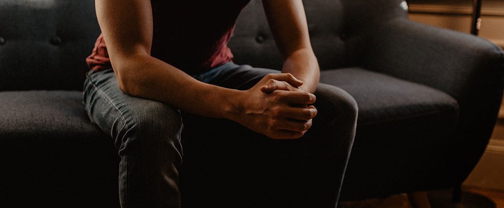
<path fill-rule="evenodd" d="M 457 101 L 433 88 L 363 68 L 323 71 L 321 82 L 350 93 L 359 106 L 359 125 L 458 111 Z"/>

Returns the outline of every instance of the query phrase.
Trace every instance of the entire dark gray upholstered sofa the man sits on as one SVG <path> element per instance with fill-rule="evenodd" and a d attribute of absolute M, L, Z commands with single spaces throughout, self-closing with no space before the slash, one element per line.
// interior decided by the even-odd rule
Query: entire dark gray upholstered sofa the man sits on
<path fill-rule="evenodd" d="M 304 3 L 321 82 L 359 106 L 340 199 L 458 187 L 495 123 L 502 50 L 411 22 L 401 0 Z M 99 33 L 92 0 L 0 0 L 0 207 L 117 206 L 116 150 L 81 101 Z M 229 45 L 280 68 L 260 1 Z"/>

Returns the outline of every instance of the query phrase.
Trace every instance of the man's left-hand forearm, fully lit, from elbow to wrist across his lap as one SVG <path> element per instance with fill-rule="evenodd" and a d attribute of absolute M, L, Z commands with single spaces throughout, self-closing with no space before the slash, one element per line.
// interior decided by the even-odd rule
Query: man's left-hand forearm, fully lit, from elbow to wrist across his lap
<path fill-rule="evenodd" d="M 238 90 L 200 82 L 159 59 L 134 56 L 116 63 L 119 87 L 129 95 L 208 117 L 229 118 L 237 108 Z"/>

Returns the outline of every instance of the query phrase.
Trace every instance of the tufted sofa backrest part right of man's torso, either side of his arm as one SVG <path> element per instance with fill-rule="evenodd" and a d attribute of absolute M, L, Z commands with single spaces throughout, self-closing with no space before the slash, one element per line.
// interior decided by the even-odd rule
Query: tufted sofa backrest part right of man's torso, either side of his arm
<path fill-rule="evenodd" d="M 359 65 L 372 30 L 393 18 L 407 18 L 403 0 L 303 0 L 311 44 L 321 70 Z M 234 62 L 280 69 L 281 56 L 261 0 L 252 0 L 237 20 L 228 46 Z"/>

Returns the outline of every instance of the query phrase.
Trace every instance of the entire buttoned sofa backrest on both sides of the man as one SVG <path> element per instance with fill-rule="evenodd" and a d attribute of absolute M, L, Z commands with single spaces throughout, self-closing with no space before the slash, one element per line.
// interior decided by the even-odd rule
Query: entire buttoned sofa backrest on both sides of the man
<path fill-rule="evenodd" d="M 321 68 L 358 64 L 372 28 L 405 18 L 402 0 L 304 0 Z M 0 91 L 82 90 L 85 58 L 100 33 L 93 0 L 0 0 Z M 281 67 L 260 0 L 240 15 L 235 62 Z"/>

